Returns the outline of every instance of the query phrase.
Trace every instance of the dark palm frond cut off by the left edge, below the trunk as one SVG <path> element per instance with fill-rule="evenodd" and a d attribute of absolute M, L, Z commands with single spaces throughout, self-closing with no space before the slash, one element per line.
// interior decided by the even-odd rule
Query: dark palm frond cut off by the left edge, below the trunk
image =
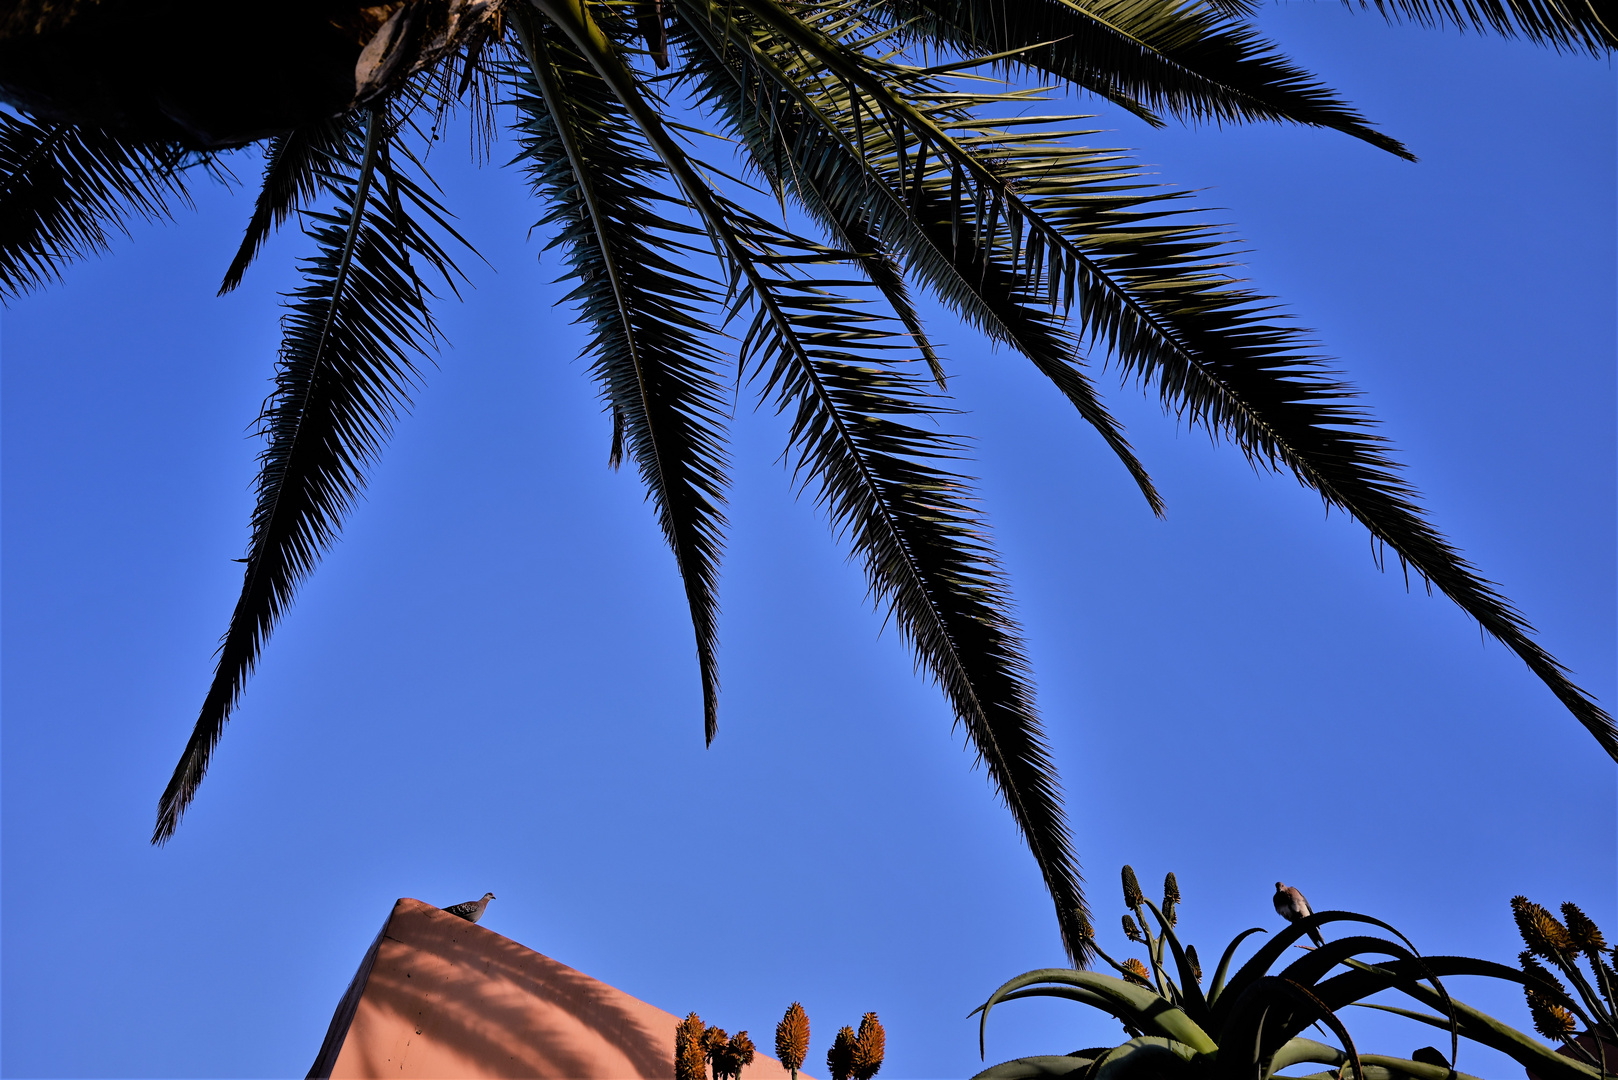
<path fill-rule="evenodd" d="M 61 279 L 100 254 L 131 217 L 191 204 L 180 147 L 147 146 L 68 123 L 0 112 L 0 300 Z"/>

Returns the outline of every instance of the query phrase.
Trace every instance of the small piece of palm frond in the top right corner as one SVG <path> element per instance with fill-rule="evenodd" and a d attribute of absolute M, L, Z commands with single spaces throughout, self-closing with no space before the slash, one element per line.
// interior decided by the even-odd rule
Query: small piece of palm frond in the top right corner
<path fill-rule="evenodd" d="M 1526 37 L 1558 52 L 1610 55 L 1618 49 L 1618 11 L 1603 0 L 1343 0 L 1390 23 L 1455 26 Z"/>

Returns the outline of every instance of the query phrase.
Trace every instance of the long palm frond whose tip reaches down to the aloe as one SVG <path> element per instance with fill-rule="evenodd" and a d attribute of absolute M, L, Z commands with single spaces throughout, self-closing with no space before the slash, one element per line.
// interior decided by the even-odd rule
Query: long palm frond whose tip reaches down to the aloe
<path fill-rule="evenodd" d="M 806 269 L 851 253 L 804 241 L 707 185 L 587 11 L 570 0 L 536 6 L 602 76 L 701 214 L 738 309 L 754 311 L 743 353 L 762 371 L 764 393 L 791 415 L 799 476 L 819 489 L 872 594 L 966 727 L 1034 853 L 1069 955 L 1084 962 L 1089 915 L 1010 599 L 966 479 L 938 466 L 958 455 L 955 440 L 909 423 L 938 410 L 921 376 L 887 361 L 903 335 L 895 340 L 838 295 L 861 283 Z"/>

